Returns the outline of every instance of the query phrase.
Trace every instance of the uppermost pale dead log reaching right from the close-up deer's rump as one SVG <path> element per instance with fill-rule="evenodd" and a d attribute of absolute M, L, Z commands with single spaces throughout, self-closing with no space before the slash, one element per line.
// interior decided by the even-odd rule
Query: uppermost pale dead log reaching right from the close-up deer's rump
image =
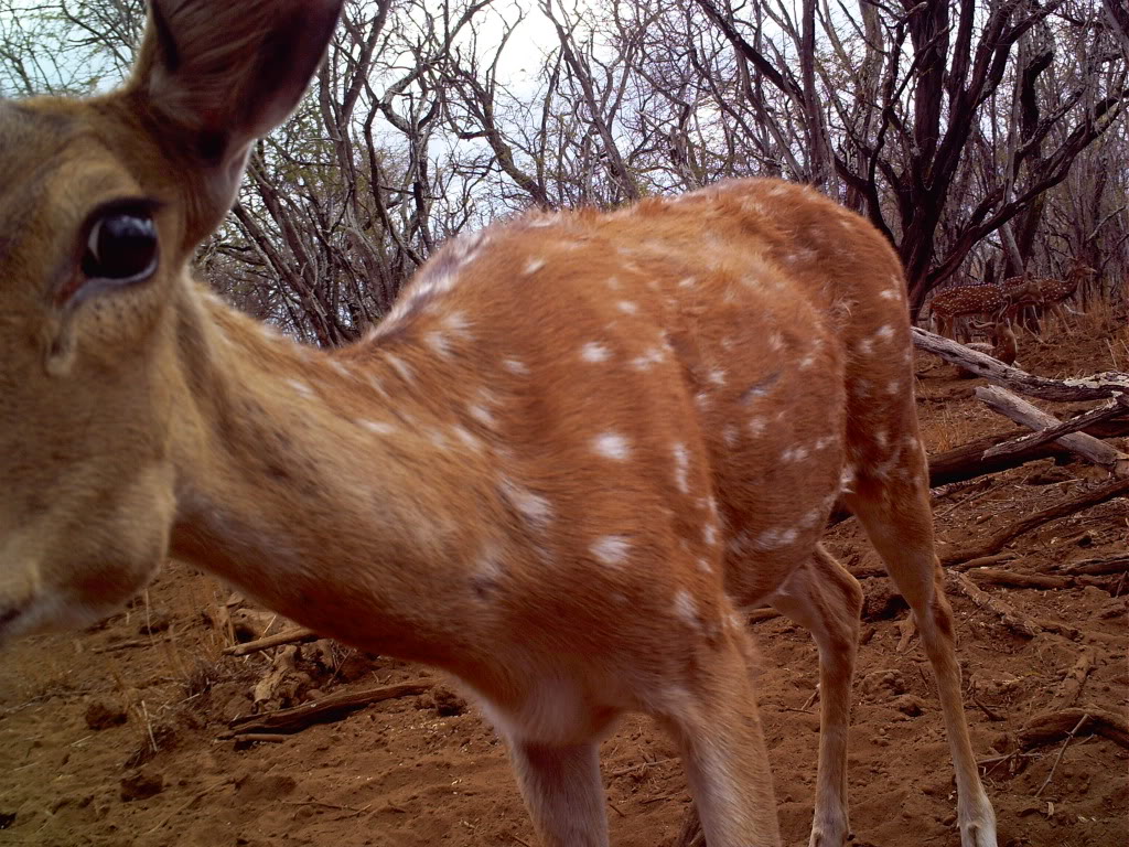
<path fill-rule="evenodd" d="M 913 343 L 939 356 L 945 361 L 971 370 L 997 385 L 1006 385 L 1012 391 L 1041 400 L 1069 402 L 1078 400 L 1105 400 L 1115 393 L 1129 393 L 1129 374 L 1108 370 L 1093 376 L 1074 379 L 1049 379 L 1034 376 L 1026 370 L 1005 365 L 999 359 L 984 356 L 959 344 L 944 335 L 913 328 Z"/>

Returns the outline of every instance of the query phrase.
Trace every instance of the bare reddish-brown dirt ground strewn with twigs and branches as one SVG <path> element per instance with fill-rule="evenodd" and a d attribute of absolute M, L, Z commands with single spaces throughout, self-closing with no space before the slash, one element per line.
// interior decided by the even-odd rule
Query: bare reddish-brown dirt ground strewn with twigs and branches
<path fill-rule="evenodd" d="M 1021 361 L 1049 376 L 1126 369 L 1129 361 L 1124 329 L 1078 333 L 1040 349 L 1027 343 Z M 1009 427 L 971 399 L 979 381 L 956 379 L 953 368 L 929 357 L 918 365 L 930 449 Z M 1083 464 L 1051 468 L 1047 460 L 986 478 L 935 500 L 939 538 L 961 545 L 1101 475 Z M 1066 562 L 1123 553 L 1127 535 L 1129 501 L 1111 500 L 1021 535 L 1008 548 L 1014 561 L 1003 567 L 1054 573 Z M 834 527 L 828 542 L 849 566 L 870 561 L 854 521 Z M 1123 719 L 1126 582 L 1122 566 L 1054 591 L 983 585 L 1022 614 L 1080 630 L 1074 640 L 1017 635 L 949 590 L 973 743 L 986 760 L 1001 847 L 1129 844 L 1129 750 L 1084 727 L 1040 792 L 1062 743 L 1021 749 L 1018 740 L 1032 715 L 1062 705 L 1061 681 L 1084 649 L 1094 663 L 1076 705 Z M 854 844 L 955 847 L 952 769 L 928 665 L 917 639 L 898 650 L 905 612 L 889 582 L 863 583 L 867 610 L 849 770 Z M 369 706 L 278 743 L 237 748 L 220 739 L 228 719 L 252 710 L 251 689 L 271 661 L 269 654 L 220 655 L 228 636 L 202 612 L 227 599 L 216 580 L 174 564 L 146 597 L 107 623 L 30 639 L 0 658 L 0 846 L 535 844 L 491 730 L 473 709 L 440 716 L 431 695 Z M 270 631 L 279 628 L 275 622 Z M 781 619 L 753 628 L 785 842 L 806 844 L 819 728 L 806 705 L 815 648 Z M 134 646 L 121 646 L 129 641 Z M 305 645 L 301 654 L 306 675 L 290 680 L 296 701 L 310 688 L 308 697 L 317 698 L 436 679 L 326 641 Z M 124 722 L 113 724 L 115 715 Z M 99 722 L 111 725 L 89 725 Z M 603 768 L 613 844 L 668 844 L 689 797 L 665 735 L 646 718 L 624 721 L 604 743 Z"/>

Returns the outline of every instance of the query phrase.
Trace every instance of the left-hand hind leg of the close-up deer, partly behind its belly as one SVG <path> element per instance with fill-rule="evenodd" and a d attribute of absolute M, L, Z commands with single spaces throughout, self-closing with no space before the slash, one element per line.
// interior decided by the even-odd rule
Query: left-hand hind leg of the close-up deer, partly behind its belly
<path fill-rule="evenodd" d="M 842 847 L 850 833 L 847 736 L 863 590 L 820 545 L 769 602 L 805 627 L 820 650 L 820 763 L 809 847 Z"/>

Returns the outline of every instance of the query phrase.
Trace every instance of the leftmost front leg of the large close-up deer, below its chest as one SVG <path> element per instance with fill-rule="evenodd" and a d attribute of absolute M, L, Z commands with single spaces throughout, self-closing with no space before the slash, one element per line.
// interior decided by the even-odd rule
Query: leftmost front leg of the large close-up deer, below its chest
<path fill-rule="evenodd" d="M 548 746 L 510 739 L 510 758 L 545 847 L 607 847 L 599 746 Z"/>

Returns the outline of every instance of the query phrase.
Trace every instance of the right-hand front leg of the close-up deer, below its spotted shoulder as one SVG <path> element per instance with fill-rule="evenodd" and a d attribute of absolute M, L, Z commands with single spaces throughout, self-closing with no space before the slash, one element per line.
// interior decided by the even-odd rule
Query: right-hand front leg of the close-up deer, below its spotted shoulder
<path fill-rule="evenodd" d="M 725 627 L 695 652 L 691 682 L 656 698 L 651 711 L 679 743 L 694 811 L 709 847 L 779 847 L 768 751 L 749 674 L 749 635 Z M 700 845 L 693 815 L 682 844 Z"/>

